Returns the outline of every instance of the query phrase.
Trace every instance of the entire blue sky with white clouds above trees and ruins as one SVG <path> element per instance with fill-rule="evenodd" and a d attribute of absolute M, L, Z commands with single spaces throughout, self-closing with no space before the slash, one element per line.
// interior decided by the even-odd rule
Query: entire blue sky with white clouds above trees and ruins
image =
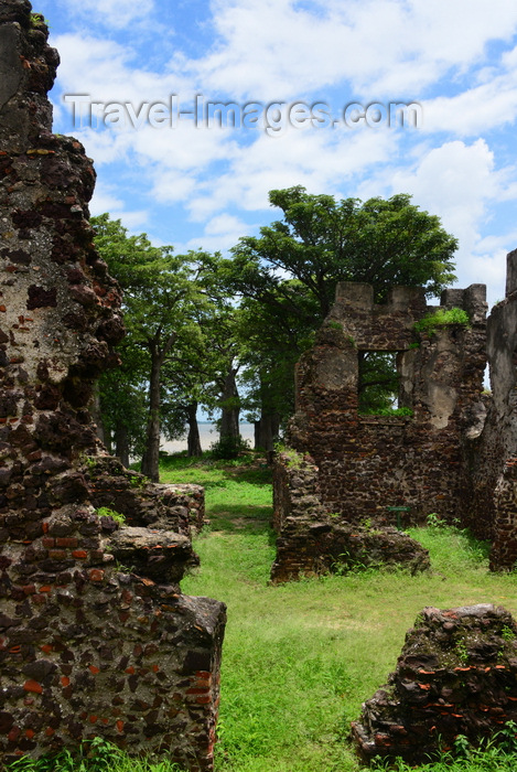
<path fill-rule="evenodd" d="M 54 130 L 95 160 L 94 214 L 179 253 L 226 250 L 278 217 L 271 189 L 411 193 L 460 239 L 457 286 L 504 297 L 517 247 L 515 0 L 41 0 L 34 10 L 62 57 Z M 104 121 L 101 107 L 96 127 L 74 126 L 65 95 L 136 116 L 143 104 L 143 117 L 171 95 L 184 112 L 195 95 L 239 109 L 274 101 L 282 120 L 269 131 L 192 117 L 136 128 Z M 298 126 L 287 120 L 294 103 Z M 316 103 L 325 121 L 306 112 Z M 419 103 L 420 126 L 390 127 L 381 114 L 377 126 L 347 126 L 351 103 Z"/>

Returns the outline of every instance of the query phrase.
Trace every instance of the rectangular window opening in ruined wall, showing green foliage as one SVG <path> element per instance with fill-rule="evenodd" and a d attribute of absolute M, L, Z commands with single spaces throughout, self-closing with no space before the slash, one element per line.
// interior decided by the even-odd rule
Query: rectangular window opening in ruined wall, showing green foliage
<path fill-rule="evenodd" d="M 400 355 L 396 351 L 358 352 L 358 409 L 383 416 L 400 410 Z M 409 410 L 408 410 L 409 412 Z"/>

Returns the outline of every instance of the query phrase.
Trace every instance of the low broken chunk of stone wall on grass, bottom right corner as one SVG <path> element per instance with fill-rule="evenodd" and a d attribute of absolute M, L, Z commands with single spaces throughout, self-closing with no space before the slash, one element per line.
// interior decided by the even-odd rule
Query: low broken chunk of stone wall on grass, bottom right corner
<path fill-rule="evenodd" d="M 352 737 L 363 760 L 420 764 L 457 735 L 478 746 L 517 720 L 517 626 L 492 604 L 418 615 L 388 683 L 363 705 Z"/>

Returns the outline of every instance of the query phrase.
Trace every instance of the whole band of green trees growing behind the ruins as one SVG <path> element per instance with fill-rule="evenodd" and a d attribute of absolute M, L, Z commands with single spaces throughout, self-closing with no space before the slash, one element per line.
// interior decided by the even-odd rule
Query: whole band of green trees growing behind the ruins
<path fill-rule="evenodd" d="M 220 411 L 222 455 L 235 454 L 244 410 L 257 421 L 257 448 L 272 449 L 294 411 L 295 363 L 312 347 L 338 281 L 371 283 L 379 301 L 392 286 L 437 294 L 454 279 L 456 239 L 407 194 L 360 202 L 297 185 L 269 199 L 281 219 L 240 238 L 231 257 L 175 255 L 108 214 L 91 221 L 125 292 L 128 330 L 121 368 L 100 380 L 96 422 L 126 465 L 130 454 L 142 457 L 152 480 L 159 425 L 169 439 L 189 426 L 190 455 L 201 455 L 198 406 Z M 356 347 L 335 320 L 326 331 Z M 359 352 L 362 408 L 388 407 L 398 394 L 395 363 L 380 358 Z"/>

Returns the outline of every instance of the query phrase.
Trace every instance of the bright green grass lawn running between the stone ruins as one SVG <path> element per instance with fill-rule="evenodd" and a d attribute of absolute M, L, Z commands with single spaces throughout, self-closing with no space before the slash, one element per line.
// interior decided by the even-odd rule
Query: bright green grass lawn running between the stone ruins
<path fill-rule="evenodd" d="M 217 772 L 358 772 L 349 721 L 386 683 L 421 609 L 492 602 L 517 615 L 517 576 L 491 575 L 483 545 L 437 527 L 411 530 L 431 553 L 432 575 L 366 571 L 270 586 L 271 485 L 260 460 L 174 457 L 161 480 L 206 489 L 211 525 L 195 539 L 201 568 L 182 589 L 228 604 Z M 122 763 L 109 770 L 129 770 Z M 420 769 L 515 772 L 517 757 L 488 749 Z"/>

